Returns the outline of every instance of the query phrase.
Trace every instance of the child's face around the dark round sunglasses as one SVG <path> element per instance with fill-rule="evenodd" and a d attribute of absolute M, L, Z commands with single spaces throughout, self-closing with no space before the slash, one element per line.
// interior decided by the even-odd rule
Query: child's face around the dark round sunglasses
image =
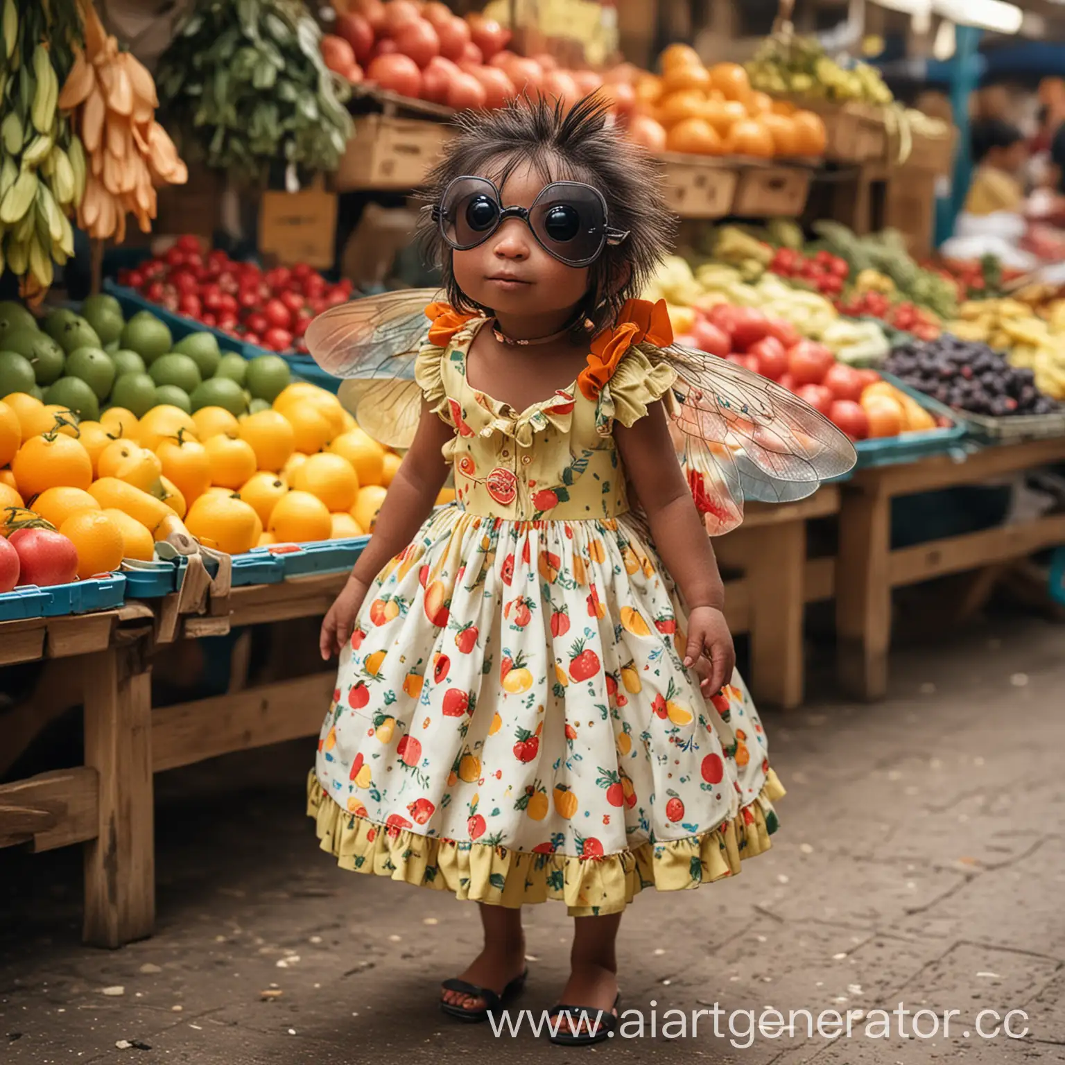
<path fill-rule="evenodd" d="M 546 183 L 531 167 L 519 166 L 499 190 L 503 206 L 531 207 Z M 548 255 L 521 218 L 507 218 L 484 244 L 452 255 L 459 288 L 504 317 L 564 320 L 588 291 L 588 267 Z"/>

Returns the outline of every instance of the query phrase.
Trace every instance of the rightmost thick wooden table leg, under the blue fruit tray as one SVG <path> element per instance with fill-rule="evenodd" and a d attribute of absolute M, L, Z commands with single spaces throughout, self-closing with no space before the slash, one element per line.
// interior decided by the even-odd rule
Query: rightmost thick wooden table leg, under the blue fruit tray
<path fill-rule="evenodd" d="M 843 491 L 836 560 L 836 666 L 855 699 L 883 699 L 891 642 L 891 498 Z"/>

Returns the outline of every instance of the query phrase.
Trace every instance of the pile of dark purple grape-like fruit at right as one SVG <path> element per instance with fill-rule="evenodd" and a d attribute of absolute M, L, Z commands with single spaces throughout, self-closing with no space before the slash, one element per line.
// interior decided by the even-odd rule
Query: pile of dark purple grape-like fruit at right
<path fill-rule="evenodd" d="M 1039 391 L 1032 370 L 1011 366 L 986 344 L 950 333 L 900 345 L 885 368 L 940 403 L 972 414 L 1005 417 L 1060 409 Z"/>

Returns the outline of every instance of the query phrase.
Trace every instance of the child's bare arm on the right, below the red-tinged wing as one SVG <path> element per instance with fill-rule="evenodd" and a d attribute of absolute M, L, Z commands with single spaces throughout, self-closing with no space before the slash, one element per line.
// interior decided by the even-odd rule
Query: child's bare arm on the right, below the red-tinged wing
<path fill-rule="evenodd" d="M 693 666 L 705 650 L 712 665 L 710 691 L 718 691 L 736 663 L 722 613 L 724 586 L 706 527 L 676 461 L 662 405 L 656 403 L 632 428 L 617 426 L 615 440 L 658 552 L 690 611 L 685 666 Z"/>

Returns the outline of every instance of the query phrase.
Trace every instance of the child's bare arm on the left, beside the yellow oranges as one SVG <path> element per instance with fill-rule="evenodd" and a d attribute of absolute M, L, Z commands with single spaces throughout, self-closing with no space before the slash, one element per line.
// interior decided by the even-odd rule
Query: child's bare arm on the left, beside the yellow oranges
<path fill-rule="evenodd" d="M 374 578 L 389 559 L 410 543 L 432 509 L 447 479 L 447 463 L 441 449 L 454 433 L 450 426 L 423 405 L 414 442 L 392 478 L 374 535 L 322 622 L 318 645 L 323 658 L 339 654 L 351 638 L 359 608 Z"/>

